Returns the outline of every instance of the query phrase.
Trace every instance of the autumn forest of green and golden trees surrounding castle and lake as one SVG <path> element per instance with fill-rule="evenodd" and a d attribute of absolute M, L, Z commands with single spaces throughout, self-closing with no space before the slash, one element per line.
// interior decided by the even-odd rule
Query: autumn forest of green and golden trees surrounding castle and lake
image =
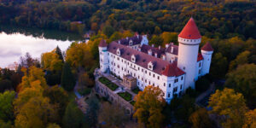
<path fill-rule="evenodd" d="M 15 70 L 0 72 L 0 127 L 256 127 L 256 3 L 250 0 L 0 0 L 0 23 L 83 35 L 67 51 L 58 47 L 40 60 L 29 53 Z M 214 49 L 210 73 L 195 90 L 166 104 L 148 85 L 135 98 L 133 116 L 93 93 L 98 44 L 148 34 L 149 44 L 177 44 L 193 16 L 202 42 Z M 215 83 L 207 105 L 195 98 Z M 84 96 L 80 109 L 74 91 Z M 144 98 L 150 97 L 150 98 Z M 107 121 L 106 121 L 107 120 Z"/>

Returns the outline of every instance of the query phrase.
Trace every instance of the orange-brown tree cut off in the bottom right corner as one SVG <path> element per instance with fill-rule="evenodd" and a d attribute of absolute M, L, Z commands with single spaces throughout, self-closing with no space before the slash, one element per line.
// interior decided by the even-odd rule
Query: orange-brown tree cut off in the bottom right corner
<path fill-rule="evenodd" d="M 245 124 L 242 128 L 253 128 L 256 127 L 256 109 L 250 110 L 245 114 Z"/>

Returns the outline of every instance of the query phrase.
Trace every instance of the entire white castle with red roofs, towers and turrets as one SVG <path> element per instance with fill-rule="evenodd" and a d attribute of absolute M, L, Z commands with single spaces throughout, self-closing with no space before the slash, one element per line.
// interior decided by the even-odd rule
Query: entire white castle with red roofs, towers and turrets
<path fill-rule="evenodd" d="M 165 48 L 148 45 L 147 35 L 135 34 L 107 44 L 99 44 L 100 71 L 113 73 L 123 79 L 128 89 L 143 90 L 148 84 L 164 92 L 166 102 L 174 95 L 183 93 L 189 87 L 195 88 L 195 81 L 209 73 L 213 49 L 207 43 L 201 47 L 201 34 L 190 18 L 178 35 L 178 46 L 166 44 Z"/>

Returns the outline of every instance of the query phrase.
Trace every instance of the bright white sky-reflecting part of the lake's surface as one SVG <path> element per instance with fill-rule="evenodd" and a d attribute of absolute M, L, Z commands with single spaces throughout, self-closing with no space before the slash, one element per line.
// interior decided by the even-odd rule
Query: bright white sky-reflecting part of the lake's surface
<path fill-rule="evenodd" d="M 29 52 L 33 58 L 40 58 L 44 52 L 49 52 L 58 45 L 60 49 L 66 50 L 72 42 L 55 39 L 33 38 L 20 33 L 0 33 L 0 67 L 8 67 L 15 61 L 20 61 L 20 56 Z"/>

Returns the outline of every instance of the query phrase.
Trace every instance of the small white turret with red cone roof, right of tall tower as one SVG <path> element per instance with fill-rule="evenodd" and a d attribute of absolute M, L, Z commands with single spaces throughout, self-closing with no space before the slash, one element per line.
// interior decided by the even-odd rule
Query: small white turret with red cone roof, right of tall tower
<path fill-rule="evenodd" d="M 201 55 L 204 57 L 204 61 L 202 64 L 202 75 L 205 75 L 210 71 L 212 53 L 213 53 L 212 46 L 208 42 L 203 47 L 201 47 Z"/>

